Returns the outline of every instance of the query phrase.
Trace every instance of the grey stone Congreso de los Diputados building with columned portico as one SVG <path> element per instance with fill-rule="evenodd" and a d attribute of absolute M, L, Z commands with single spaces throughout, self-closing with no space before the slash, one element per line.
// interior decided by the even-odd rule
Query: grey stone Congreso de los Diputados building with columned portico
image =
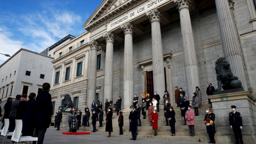
<path fill-rule="evenodd" d="M 221 57 L 245 91 L 256 90 L 255 6 L 255 0 L 104 0 L 84 23 L 86 32 L 55 51 L 55 111 L 66 94 L 82 111 L 93 100 L 119 96 L 125 109 L 142 91 L 156 91 L 163 102 L 167 90 L 176 106 L 175 86 L 189 100 L 199 86 L 206 102 L 207 83 L 218 87 Z"/>

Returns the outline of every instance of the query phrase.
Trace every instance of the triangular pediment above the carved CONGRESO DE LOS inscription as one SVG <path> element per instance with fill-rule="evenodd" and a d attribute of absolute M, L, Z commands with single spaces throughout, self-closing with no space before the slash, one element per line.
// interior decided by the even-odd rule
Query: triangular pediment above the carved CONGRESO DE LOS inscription
<path fill-rule="evenodd" d="M 83 27 L 90 25 L 94 21 L 100 19 L 103 15 L 115 11 L 115 9 L 125 3 L 129 3 L 134 0 L 104 0 L 97 9 L 92 13 L 91 17 L 84 23 Z"/>

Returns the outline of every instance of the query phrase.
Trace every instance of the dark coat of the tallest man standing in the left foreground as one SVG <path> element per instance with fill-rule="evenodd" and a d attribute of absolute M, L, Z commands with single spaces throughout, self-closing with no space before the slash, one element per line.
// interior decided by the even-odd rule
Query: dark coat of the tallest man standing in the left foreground
<path fill-rule="evenodd" d="M 49 128 L 52 116 L 52 96 L 49 91 L 42 91 L 36 97 L 35 129 Z"/>

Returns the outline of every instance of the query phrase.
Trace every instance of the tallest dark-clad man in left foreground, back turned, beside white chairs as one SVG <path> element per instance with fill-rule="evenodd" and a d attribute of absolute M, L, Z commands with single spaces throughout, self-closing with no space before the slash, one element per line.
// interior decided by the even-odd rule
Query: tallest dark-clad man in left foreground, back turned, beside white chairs
<path fill-rule="evenodd" d="M 43 84 L 43 91 L 36 97 L 36 116 L 35 116 L 35 133 L 34 137 L 38 138 L 37 143 L 42 144 L 44 134 L 49 128 L 52 116 L 52 96 L 49 93 L 50 84 Z M 36 141 L 33 141 L 36 144 Z"/>

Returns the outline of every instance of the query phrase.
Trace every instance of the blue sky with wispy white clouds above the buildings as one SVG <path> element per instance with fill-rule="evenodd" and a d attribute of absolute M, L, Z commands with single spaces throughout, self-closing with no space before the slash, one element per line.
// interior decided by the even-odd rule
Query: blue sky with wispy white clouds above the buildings
<path fill-rule="evenodd" d="M 0 1 L 0 53 L 21 47 L 42 52 L 68 34 L 84 33 L 84 22 L 102 0 Z M 24 46 L 22 46 L 22 44 Z M 0 65 L 9 57 L 0 54 Z"/>

